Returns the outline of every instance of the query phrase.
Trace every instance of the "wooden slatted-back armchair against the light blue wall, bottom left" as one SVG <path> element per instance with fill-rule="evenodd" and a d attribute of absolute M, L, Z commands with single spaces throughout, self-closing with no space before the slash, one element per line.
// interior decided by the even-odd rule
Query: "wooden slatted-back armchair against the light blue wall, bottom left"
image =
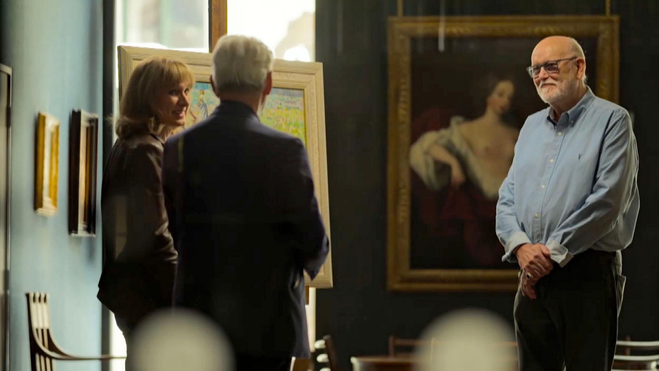
<path fill-rule="evenodd" d="M 26 293 L 28 300 L 28 330 L 30 332 L 30 359 L 32 371 L 54 371 L 53 360 L 111 360 L 125 359 L 101 355 L 98 357 L 77 357 L 63 351 L 53 339 L 50 328 L 49 295 L 47 293 Z"/>

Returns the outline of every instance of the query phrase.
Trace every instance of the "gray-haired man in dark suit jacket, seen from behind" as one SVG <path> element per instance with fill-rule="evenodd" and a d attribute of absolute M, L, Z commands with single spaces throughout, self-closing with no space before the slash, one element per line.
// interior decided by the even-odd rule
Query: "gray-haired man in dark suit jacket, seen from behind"
<path fill-rule="evenodd" d="M 272 89 L 268 47 L 223 36 L 212 60 L 219 106 L 163 155 L 174 305 L 219 324 L 236 370 L 289 370 L 291 357 L 310 357 L 302 272 L 313 279 L 329 249 L 312 174 L 302 141 L 258 118 Z"/>

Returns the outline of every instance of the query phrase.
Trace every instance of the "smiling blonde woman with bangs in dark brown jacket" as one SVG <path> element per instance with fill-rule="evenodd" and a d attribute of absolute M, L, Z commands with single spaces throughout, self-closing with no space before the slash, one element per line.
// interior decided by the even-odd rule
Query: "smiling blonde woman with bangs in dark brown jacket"
<path fill-rule="evenodd" d="M 119 105 L 103 173 L 103 273 L 98 299 L 115 314 L 129 357 L 133 330 L 171 305 L 177 252 L 161 185 L 163 144 L 185 124 L 194 75 L 179 61 L 152 57 L 138 65 Z M 127 366 L 129 362 L 127 360 Z"/>

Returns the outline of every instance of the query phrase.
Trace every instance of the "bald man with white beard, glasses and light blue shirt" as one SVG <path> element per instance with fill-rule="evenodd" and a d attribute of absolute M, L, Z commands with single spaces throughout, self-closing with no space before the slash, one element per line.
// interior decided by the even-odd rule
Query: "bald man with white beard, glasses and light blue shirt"
<path fill-rule="evenodd" d="M 625 109 L 596 97 L 570 37 L 543 39 L 528 68 L 550 107 L 527 118 L 499 191 L 496 233 L 517 262 L 520 370 L 610 370 L 639 213 L 638 155 Z"/>

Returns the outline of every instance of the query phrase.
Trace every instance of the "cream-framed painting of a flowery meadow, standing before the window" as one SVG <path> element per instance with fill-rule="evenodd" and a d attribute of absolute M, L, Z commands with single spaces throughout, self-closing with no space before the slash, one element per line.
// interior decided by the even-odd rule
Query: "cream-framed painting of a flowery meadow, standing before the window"
<path fill-rule="evenodd" d="M 219 105 L 210 84 L 211 57 L 209 53 L 149 49 L 119 46 L 119 94 L 127 86 L 130 73 L 137 64 L 152 55 L 186 62 L 196 82 L 190 91 L 190 108 L 186 127 L 204 120 Z M 327 149 L 325 135 L 325 103 L 322 63 L 283 61 L 276 59 L 272 72 L 273 89 L 260 114 L 263 124 L 286 132 L 302 140 L 306 147 L 314 177 L 314 187 L 320 214 L 329 237 L 329 193 Z M 329 288 L 333 285 L 331 251 L 318 276 L 309 287 Z"/>

